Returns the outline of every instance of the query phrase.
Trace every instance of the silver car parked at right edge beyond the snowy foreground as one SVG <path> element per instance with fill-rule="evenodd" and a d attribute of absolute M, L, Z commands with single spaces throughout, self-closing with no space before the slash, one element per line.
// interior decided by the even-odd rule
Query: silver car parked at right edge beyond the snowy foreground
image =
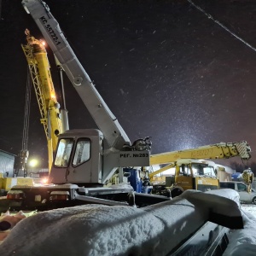
<path fill-rule="evenodd" d="M 256 205 L 256 190 L 251 189 L 251 191 L 249 191 L 246 183 L 232 181 L 220 182 L 219 187 L 220 189 L 235 189 L 240 196 L 241 202 Z"/>

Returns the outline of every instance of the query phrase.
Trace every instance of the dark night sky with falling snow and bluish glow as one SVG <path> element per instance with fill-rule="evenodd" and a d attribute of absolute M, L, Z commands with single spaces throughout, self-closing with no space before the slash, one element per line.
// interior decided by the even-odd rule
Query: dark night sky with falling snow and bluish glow
<path fill-rule="evenodd" d="M 241 140 L 254 151 L 256 52 L 188 1 L 45 2 L 131 141 L 152 137 L 152 154 Z M 27 68 L 20 44 L 26 44 L 26 28 L 34 37 L 42 36 L 21 0 L 1 3 L 0 149 L 18 154 Z M 194 3 L 256 47 L 256 1 Z M 60 95 L 50 49 L 48 53 Z M 70 129 L 96 128 L 67 79 L 65 90 Z M 47 167 L 34 91 L 31 108 L 28 149 Z"/>

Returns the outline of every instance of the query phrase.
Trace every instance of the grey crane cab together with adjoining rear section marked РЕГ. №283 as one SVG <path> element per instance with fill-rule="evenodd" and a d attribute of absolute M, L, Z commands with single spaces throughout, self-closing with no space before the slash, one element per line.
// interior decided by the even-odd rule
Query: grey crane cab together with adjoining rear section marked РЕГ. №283
<path fill-rule="evenodd" d="M 148 149 L 124 147 L 122 150 L 103 150 L 103 138 L 102 131 L 96 129 L 62 133 L 49 172 L 49 183 L 98 187 L 106 183 L 119 167 L 149 166 Z"/>

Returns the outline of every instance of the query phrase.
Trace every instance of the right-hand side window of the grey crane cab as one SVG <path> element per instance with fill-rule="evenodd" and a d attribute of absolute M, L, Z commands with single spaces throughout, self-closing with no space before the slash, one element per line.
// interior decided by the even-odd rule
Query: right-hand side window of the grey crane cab
<path fill-rule="evenodd" d="M 90 160 L 90 140 L 85 138 L 79 139 L 75 148 L 73 166 L 79 166 L 88 160 Z"/>

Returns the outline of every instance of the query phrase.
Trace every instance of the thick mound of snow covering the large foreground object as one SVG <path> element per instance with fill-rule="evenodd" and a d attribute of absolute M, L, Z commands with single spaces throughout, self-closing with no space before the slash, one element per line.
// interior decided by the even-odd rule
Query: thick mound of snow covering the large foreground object
<path fill-rule="evenodd" d="M 0 255 L 166 255 L 201 227 L 220 201 L 231 203 L 236 217 L 234 201 L 194 190 L 144 208 L 87 205 L 38 212 L 15 226 Z"/>

